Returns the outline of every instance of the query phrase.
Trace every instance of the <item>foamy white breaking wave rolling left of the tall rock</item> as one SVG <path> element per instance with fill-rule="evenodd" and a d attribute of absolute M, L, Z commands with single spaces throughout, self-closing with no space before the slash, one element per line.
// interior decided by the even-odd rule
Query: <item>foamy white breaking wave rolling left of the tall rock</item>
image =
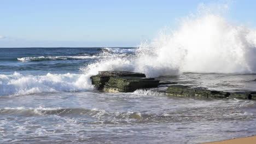
<path fill-rule="evenodd" d="M 85 74 L 0 75 L 0 95 L 20 95 L 43 92 L 78 92 L 93 89 Z"/>

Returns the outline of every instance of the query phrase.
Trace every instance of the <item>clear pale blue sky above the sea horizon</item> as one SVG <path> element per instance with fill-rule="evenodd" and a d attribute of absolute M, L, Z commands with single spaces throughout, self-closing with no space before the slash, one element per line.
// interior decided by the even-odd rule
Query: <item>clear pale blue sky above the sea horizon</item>
<path fill-rule="evenodd" d="M 0 0 L 0 47 L 130 47 L 199 4 L 229 3 L 231 21 L 256 27 L 256 1 Z"/>

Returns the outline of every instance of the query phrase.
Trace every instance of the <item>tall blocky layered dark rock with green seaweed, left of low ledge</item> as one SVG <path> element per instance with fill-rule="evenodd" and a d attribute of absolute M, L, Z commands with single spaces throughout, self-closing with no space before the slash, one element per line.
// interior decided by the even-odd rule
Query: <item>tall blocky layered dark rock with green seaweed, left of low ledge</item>
<path fill-rule="evenodd" d="M 139 88 L 158 87 L 159 81 L 145 74 L 129 71 L 99 71 L 91 76 L 92 85 L 105 92 L 133 92 Z"/>

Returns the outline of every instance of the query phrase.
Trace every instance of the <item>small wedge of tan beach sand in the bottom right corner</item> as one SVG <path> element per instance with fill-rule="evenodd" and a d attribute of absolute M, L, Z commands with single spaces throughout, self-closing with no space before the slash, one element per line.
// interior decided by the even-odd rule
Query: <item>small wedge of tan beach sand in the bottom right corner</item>
<path fill-rule="evenodd" d="M 254 143 L 256 143 L 256 136 L 248 136 L 248 137 L 216 141 L 216 142 L 206 142 L 206 143 L 201 143 L 201 144 L 241 144 L 241 143 L 254 144 Z"/>

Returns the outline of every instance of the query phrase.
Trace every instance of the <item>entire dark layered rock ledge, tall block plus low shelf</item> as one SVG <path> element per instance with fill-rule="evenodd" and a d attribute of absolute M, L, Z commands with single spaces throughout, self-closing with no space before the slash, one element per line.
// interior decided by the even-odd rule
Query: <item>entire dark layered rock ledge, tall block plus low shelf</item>
<path fill-rule="evenodd" d="M 171 85 L 176 84 L 176 82 L 159 82 L 159 80 L 155 80 L 154 78 L 146 78 L 145 74 L 129 71 L 99 71 L 98 75 L 91 76 L 91 81 L 92 85 L 104 92 L 126 93 L 136 91 L 136 89 L 156 88 L 159 85 L 168 85 L 165 93 L 176 97 L 238 98 L 256 100 L 256 92 L 223 92 L 211 91 L 203 88 L 191 88 L 183 85 Z"/>

